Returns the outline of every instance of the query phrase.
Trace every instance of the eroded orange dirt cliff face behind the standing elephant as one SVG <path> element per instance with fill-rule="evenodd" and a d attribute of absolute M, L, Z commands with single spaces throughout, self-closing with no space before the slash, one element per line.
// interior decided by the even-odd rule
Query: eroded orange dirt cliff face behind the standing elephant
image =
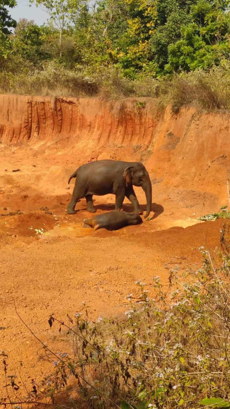
<path fill-rule="evenodd" d="M 14 185 L 22 178 L 18 190 L 24 192 L 28 178 L 27 185 L 33 184 L 36 191 L 49 193 L 55 184 L 64 194 L 63 185 L 79 165 L 126 159 L 144 163 L 154 196 L 165 192 L 165 198 L 185 208 L 205 202 L 216 209 L 224 204 L 230 169 L 229 115 L 192 108 L 177 115 L 168 108 L 160 115 L 151 101 L 145 102 L 143 109 L 132 99 L 104 104 L 98 99 L 0 96 L 1 147 L 13 146 L 14 158 L 22 147 L 29 152 L 28 160 L 22 155 L 23 178 L 20 173 L 9 180 L 3 169 L 3 184 Z M 42 155 L 47 166 L 43 163 L 39 175 L 30 174 L 30 160 L 34 157 L 38 164 Z"/>

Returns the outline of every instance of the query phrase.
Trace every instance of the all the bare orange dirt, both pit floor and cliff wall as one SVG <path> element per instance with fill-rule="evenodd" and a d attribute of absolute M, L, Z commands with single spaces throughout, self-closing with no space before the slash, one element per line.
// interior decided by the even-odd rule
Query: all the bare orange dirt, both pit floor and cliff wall
<path fill-rule="evenodd" d="M 51 313 L 62 320 L 83 301 L 90 319 L 120 313 L 109 310 L 129 293 L 138 300 L 138 278 L 153 297 L 152 277 L 167 285 L 171 267 L 181 272 L 201 262 L 199 246 L 219 247 L 223 220 L 196 218 L 228 204 L 229 115 L 156 112 L 149 100 L 138 112 L 131 99 L 103 106 L 97 99 L 0 96 L 0 214 L 23 213 L 0 216 L 0 350 L 8 353 L 8 374 L 18 373 L 20 361 L 25 382 L 50 371 L 14 302 L 42 342 L 71 349 L 58 328 L 49 329 Z M 80 225 L 92 217 L 85 199 L 67 215 L 70 174 L 106 158 L 144 163 L 153 185 L 151 220 L 92 233 Z M 144 210 L 144 192 L 135 191 Z M 97 213 L 114 208 L 114 196 L 94 199 Z M 124 209 L 132 209 L 127 200 Z M 3 375 L 2 366 L 0 389 Z"/>

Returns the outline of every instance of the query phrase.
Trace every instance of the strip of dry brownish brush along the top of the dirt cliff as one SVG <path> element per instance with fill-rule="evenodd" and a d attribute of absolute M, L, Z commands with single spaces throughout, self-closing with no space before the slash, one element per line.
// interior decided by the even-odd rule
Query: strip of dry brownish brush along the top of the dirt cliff
<path fill-rule="evenodd" d="M 86 67 L 75 70 L 52 61 L 25 74 L 0 72 L 0 92 L 4 94 L 44 95 L 52 97 L 92 97 L 102 100 L 124 97 L 158 99 L 160 106 L 171 105 L 174 113 L 182 106 L 196 106 L 205 110 L 230 108 L 230 69 L 216 67 L 209 72 L 196 70 L 175 74 L 170 79 L 140 77 L 132 81 L 113 68 Z"/>

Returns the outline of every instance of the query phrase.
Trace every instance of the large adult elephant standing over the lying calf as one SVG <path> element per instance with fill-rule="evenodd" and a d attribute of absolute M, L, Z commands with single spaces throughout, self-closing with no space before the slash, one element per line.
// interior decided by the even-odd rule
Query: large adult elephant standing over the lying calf
<path fill-rule="evenodd" d="M 67 209 L 74 214 L 77 201 L 86 198 L 87 210 L 94 213 L 92 196 L 104 196 L 112 193 L 116 196 L 115 210 L 120 210 L 124 197 L 133 204 L 134 212 L 141 213 L 134 186 L 141 186 L 145 192 L 147 209 L 144 218 L 149 216 L 152 203 L 152 185 L 149 173 L 140 162 L 123 162 L 121 160 L 98 160 L 80 166 L 69 179 L 75 181 L 72 199 Z"/>

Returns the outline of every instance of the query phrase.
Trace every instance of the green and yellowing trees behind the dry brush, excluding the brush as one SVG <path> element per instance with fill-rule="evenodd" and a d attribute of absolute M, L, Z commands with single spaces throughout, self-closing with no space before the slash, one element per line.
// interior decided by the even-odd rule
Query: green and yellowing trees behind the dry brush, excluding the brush
<path fill-rule="evenodd" d="M 16 1 L 0 0 L 1 70 L 42 70 L 55 61 L 90 72 L 115 67 L 133 80 L 229 64 L 228 0 L 28 1 L 50 20 L 16 27 L 6 8 Z"/>

